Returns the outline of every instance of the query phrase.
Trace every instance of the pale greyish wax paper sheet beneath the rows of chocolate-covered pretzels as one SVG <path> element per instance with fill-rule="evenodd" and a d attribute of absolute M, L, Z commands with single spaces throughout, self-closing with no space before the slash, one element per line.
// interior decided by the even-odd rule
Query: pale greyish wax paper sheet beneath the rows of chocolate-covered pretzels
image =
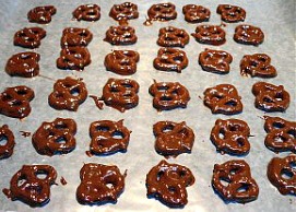
<path fill-rule="evenodd" d="M 178 163 L 189 167 L 194 177 L 196 184 L 188 187 L 188 204 L 182 211 L 294 211 L 296 209 L 296 199 L 292 196 L 282 196 L 267 178 L 267 165 L 269 161 L 279 156 L 264 146 L 265 132 L 263 130 L 263 111 L 253 106 L 253 95 L 251 86 L 261 79 L 242 78 L 239 74 L 239 61 L 244 55 L 254 52 L 265 52 L 272 58 L 272 63 L 277 69 L 279 75 L 274 79 L 264 80 L 274 84 L 283 84 L 289 92 L 292 102 L 286 113 L 272 113 L 270 116 L 280 116 L 288 120 L 295 120 L 295 1 L 269 1 L 269 0 L 249 0 L 249 1 L 178 1 L 171 0 L 176 4 L 178 17 L 167 23 L 153 23 L 152 26 L 144 26 L 146 11 L 157 2 L 155 0 L 131 1 L 138 4 L 140 17 L 130 21 L 130 25 L 135 27 L 138 43 L 132 46 L 111 46 L 103 42 L 105 32 L 110 25 L 117 23 L 108 16 L 108 12 L 114 3 L 123 1 L 59 1 L 59 0 L 1 0 L 0 8 L 0 78 L 1 92 L 8 86 L 27 85 L 35 91 L 36 97 L 31 103 L 32 113 L 24 120 L 12 119 L 0 116 L 0 123 L 7 123 L 15 136 L 16 145 L 14 154 L 0 161 L 0 188 L 9 187 L 9 181 L 24 164 L 49 164 L 55 166 L 58 172 L 58 179 L 63 176 L 68 184 L 66 186 L 51 187 L 50 202 L 40 209 L 32 209 L 20 201 L 10 201 L 0 192 L 0 211 L 169 211 L 159 201 L 146 198 L 145 176 L 146 173 L 163 157 L 156 154 L 154 150 L 155 138 L 152 132 L 152 126 L 159 120 L 186 121 L 196 133 L 196 142 L 191 154 L 181 154 L 177 158 L 168 160 L 170 163 Z M 72 20 L 72 11 L 82 3 L 97 3 L 102 8 L 102 17 L 98 22 L 76 22 Z M 265 34 L 265 40 L 259 47 L 245 46 L 236 44 L 233 40 L 235 27 L 238 25 L 226 24 L 226 44 L 213 47 L 201 45 L 192 37 L 185 51 L 189 58 L 189 66 L 182 73 L 167 73 L 156 71 L 153 68 L 153 59 L 156 57 L 158 46 L 156 45 L 158 30 L 163 26 L 176 26 L 185 28 L 188 33 L 194 32 L 197 24 L 185 22 L 181 8 L 187 3 L 199 3 L 209 8 L 212 12 L 210 23 L 221 24 L 220 15 L 216 14 L 218 3 L 233 3 L 242 7 L 247 11 L 245 23 L 252 24 L 262 28 Z M 48 25 L 39 25 L 47 31 L 47 36 L 42 40 L 42 46 L 35 49 L 42 55 L 40 74 L 34 79 L 11 78 L 4 72 L 7 60 L 16 52 L 27 49 L 13 46 L 13 35 L 20 28 L 25 26 L 36 26 L 38 24 L 28 23 L 26 13 L 29 9 L 40 4 L 54 4 L 57 8 L 57 14 Z M 60 37 L 64 27 L 87 27 L 94 35 L 88 50 L 92 55 L 92 63 L 83 72 L 63 71 L 56 67 L 56 59 L 60 52 Z M 198 56 L 204 48 L 223 49 L 230 52 L 234 57 L 229 74 L 218 75 L 201 70 L 198 64 Z M 140 62 L 138 72 L 130 79 L 137 80 L 140 84 L 140 103 L 134 109 L 123 114 L 106 107 L 98 110 L 92 98 L 80 106 L 76 113 L 58 111 L 49 107 L 47 97 L 52 91 L 52 85 L 57 79 L 67 75 L 83 78 L 86 83 L 88 94 L 100 95 L 104 84 L 109 78 L 123 78 L 111 72 L 107 72 L 104 67 L 105 56 L 111 49 L 133 49 L 140 52 Z M 52 79 L 52 80 L 50 80 Z M 147 90 L 156 81 L 178 81 L 190 92 L 191 101 L 186 109 L 175 109 L 171 111 L 157 113 L 152 107 L 152 97 Z M 209 137 L 211 128 L 217 118 L 229 118 L 224 115 L 212 115 L 210 109 L 203 106 L 199 96 L 203 91 L 220 83 L 234 84 L 242 96 L 244 111 L 232 116 L 246 120 L 251 128 L 250 153 L 245 157 L 221 155 L 216 153 L 214 145 Z M 70 117 L 78 123 L 76 149 L 70 154 L 61 156 L 42 156 L 34 150 L 31 138 L 24 138 L 20 131 L 34 132 L 43 121 L 51 121 L 56 117 Z M 100 119 L 120 120 L 125 119 L 125 125 L 132 130 L 128 152 L 117 153 L 110 156 L 88 157 L 85 151 L 88 150 L 91 138 L 88 137 L 88 126 L 91 122 Z M 285 156 L 288 153 L 281 153 Z M 222 199 L 214 193 L 211 187 L 212 169 L 215 163 L 223 163 L 228 160 L 244 158 L 250 167 L 253 178 L 257 180 L 260 192 L 258 200 L 247 203 L 225 204 Z M 84 163 L 116 164 L 123 173 L 128 170 L 126 178 L 125 192 L 118 199 L 117 204 L 105 204 L 100 207 L 81 205 L 75 199 L 75 189 L 80 184 L 79 172 Z M 59 181 L 58 181 L 59 182 Z"/>

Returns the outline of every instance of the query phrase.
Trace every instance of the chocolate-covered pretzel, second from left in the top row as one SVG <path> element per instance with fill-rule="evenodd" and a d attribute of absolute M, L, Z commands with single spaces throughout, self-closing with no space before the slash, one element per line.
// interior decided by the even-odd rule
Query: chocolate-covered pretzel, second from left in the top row
<path fill-rule="evenodd" d="M 78 7 L 72 14 L 78 21 L 94 22 L 100 17 L 100 8 L 97 4 L 83 4 Z"/>

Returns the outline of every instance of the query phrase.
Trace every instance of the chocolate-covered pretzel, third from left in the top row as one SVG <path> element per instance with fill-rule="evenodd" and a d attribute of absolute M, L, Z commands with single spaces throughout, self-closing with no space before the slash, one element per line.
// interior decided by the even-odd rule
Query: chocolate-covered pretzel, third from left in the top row
<path fill-rule="evenodd" d="M 131 2 L 114 4 L 109 12 L 109 16 L 116 21 L 138 19 L 138 5 Z"/>

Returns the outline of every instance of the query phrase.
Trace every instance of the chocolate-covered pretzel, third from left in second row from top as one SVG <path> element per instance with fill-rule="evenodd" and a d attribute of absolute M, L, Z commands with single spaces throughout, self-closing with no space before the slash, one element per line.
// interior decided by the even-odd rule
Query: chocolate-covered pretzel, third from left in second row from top
<path fill-rule="evenodd" d="M 131 45 L 137 43 L 138 37 L 132 26 L 119 25 L 110 26 L 106 32 L 105 42 L 111 45 Z"/>

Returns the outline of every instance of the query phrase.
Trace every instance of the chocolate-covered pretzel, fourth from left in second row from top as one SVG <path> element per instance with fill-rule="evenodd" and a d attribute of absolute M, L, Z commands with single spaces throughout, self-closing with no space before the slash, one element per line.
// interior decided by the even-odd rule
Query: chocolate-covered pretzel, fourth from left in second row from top
<path fill-rule="evenodd" d="M 157 44 L 163 47 L 181 47 L 189 43 L 189 35 L 185 30 L 167 26 L 159 30 Z"/>

